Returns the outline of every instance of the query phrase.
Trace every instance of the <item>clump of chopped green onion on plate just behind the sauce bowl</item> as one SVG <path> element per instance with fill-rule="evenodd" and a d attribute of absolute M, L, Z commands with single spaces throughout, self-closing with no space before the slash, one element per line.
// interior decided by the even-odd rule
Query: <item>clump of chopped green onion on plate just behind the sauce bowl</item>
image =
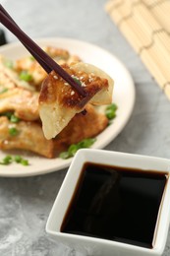
<path fill-rule="evenodd" d="M 88 138 L 79 142 L 78 144 L 72 144 L 69 147 L 68 151 L 62 152 L 59 157 L 63 160 L 72 158 L 75 156 L 78 150 L 89 148 L 95 141 L 96 141 L 95 138 Z"/>

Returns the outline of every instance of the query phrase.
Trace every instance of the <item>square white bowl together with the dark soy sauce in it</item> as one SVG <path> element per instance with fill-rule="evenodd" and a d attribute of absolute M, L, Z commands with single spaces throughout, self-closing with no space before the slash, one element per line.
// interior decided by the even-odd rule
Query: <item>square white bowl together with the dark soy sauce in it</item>
<path fill-rule="evenodd" d="M 162 255 L 170 222 L 170 160 L 80 150 L 46 231 L 84 255 Z"/>

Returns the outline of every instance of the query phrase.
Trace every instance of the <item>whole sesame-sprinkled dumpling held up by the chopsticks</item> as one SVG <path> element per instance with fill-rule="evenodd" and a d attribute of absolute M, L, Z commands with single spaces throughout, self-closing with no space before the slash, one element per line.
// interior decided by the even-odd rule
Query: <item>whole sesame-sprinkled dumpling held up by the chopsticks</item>
<path fill-rule="evenodd" d="M 85 90 L 80 96 L 67 82 L 52 71 L 42 83 L 39 96 L 39 115 L 46 139 L 56 137 L 86 103 L 109 104 L 112 101 L 113 80 L 102 70 L 83 62 L 63 65 Z"/>

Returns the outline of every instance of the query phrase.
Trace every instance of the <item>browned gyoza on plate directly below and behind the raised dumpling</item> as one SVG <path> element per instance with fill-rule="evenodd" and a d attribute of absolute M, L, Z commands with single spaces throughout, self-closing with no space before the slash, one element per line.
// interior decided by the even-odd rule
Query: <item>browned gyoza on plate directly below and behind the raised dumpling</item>
<path fill-rule="evenodd" d="M 102 132 L 108 125 L 108 119 L 91 105 L 85 106 L 86 114 L 76 114 L 70 123 L 54 139 L 57 152 L 66 150 L 86 138 L 92 138 Z"/>

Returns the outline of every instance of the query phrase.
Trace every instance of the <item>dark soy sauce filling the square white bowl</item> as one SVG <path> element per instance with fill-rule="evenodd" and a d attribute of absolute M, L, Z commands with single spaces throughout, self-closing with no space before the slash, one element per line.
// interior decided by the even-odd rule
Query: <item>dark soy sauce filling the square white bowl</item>
<path fill-rule="evenodd" d="M 85 162 L 62 232 L 152 247 L 167 172 Z"/>

